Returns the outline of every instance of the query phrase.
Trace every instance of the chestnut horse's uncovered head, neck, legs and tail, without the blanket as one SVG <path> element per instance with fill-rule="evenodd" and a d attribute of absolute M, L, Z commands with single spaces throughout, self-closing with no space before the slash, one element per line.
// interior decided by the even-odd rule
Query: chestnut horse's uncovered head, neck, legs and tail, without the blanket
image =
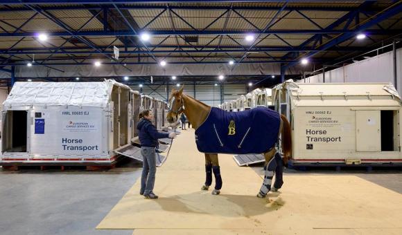
<path fill-rule="evenodd" d="M 213 108 L 216 109 L 216 108 Z M 198 100 L 195 100 L 193 97 L 183 94 L 183 87 L 180 90 L 175 91 L 173 89 L 171 93 L 171 97 L 169 97 L 169 111 L 166 115 L 168 122 L 175 123 L 177 122 L 177 118 L 180 117 L 181 113 L 184 113 L 191 125 L 195 130 L 200 127 L 205 120 L 209 117 L 209 113 L 211 112 L 211 106 L 204 104 Z M 271 112 L 271 111 L 270 111 Z M 273 111 L 274 112 L 274 111 Z M 279 113 L 274 112 L 277 117 L 279 117 Z M 259 198 L 264 198 L 268 192 L 277 191 L 283 185 L 283 164 L 287 163 L 287 160 L 290 158 L 291 149 L 292 149 L 292 141 L 290 136 L 290 124 L 285 116 L 280 115 L 280 126 L 278 131 L 278 137 L 276 137 L 276 133 L 274 136 L 274 141 L 277 142 L 279 140 L 279 134 L 281 134 L 281 148 L 283 152 L 283 158 L 281 155 L 277 153 L 277 150 L 274 146 L 269 146 L 268 151 L 264 152 L 263 155 L 265 157 L 264 171 L 265 177 L 263 180 L 263 184 L 257 196 Z M 218 134 L 218 133 L 217 133 Z M 247 134 L 247 133 L 246 133 Z M 263 138 L 261 136 L 261 138 Z M 218 154 L 217 153 L 204 153 L 205 154 L 205 171 L 206 171 L 206 180 L 204 185 L 202 186 L 202 190 L 208 190 L 209 186 L 212 183 L 212 172 L 215 176 L 215 189 L 213 189 L 212 194 L 217 195 L 220 194 L 220 189 L 222 188 L 222 177 L 220 176 L 220 166 L 218 162 Z M 275 182 L 272 185 L 272 178 L 275 174 Z M 272 186 L 271 186 L 272 185 Z"/>

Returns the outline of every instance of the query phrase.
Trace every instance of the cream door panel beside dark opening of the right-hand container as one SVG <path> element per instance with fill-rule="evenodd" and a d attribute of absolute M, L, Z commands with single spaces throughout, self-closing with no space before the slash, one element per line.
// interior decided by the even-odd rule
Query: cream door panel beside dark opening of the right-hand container
<path fill-rule="evenodd" d="M 356 151 L 381 151 L 380 111 L 356 111 Z"/>

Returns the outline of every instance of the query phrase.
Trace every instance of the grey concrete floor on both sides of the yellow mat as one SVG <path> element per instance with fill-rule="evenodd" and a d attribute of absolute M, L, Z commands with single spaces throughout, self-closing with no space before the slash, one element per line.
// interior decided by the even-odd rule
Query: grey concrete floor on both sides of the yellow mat
<path fill-rule="evenodd" d="M 254 171 L 262 173 L 261 167 Z M 287 169 L 286 174 L 348 174 L 402 194 L 397 170 Z M 110 171 L 0 171 L 0 234 L 132 234 L 95 227 L 140 175 L 141 164 L 134 160 Z"/>

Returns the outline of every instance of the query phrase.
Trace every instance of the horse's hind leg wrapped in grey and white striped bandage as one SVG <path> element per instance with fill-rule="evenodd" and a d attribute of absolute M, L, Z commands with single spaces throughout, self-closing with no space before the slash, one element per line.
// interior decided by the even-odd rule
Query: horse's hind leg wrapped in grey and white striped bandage
<path fill-rule="evenodd" d="M 257 194 L 257 197 L 259 197 L 259 198 L 265 198 L 265 196 L 267 196 L 268 192 L 271 190 L 272 178 L 274 177 L 274 170 L 277 168 L 277 162 L 274 159 L 274 153 L 276 151 L 277 150 L 274 147 L 272 147 L 272 149 L 270 151 L 264 153 L 265 176 L 264 176 L 263 185 L 261 185 L 259 194 Z"/>

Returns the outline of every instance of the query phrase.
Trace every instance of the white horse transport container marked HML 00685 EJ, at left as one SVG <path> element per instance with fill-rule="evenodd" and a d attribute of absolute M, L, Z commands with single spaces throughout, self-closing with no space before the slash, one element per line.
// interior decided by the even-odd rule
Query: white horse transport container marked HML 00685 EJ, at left
<path fill-rule="evenodd" d="M 130 88 L 113 80 L 16 82 L 3 103 L 0 164 L 113 164 L 134 135 L 131 112 Z"/>

